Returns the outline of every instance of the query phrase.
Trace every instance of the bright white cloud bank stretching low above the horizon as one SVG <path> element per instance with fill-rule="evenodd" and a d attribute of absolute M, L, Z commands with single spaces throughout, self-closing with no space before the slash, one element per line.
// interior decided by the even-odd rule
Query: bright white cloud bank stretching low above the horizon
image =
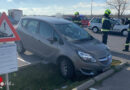
<path fill-rule="evenodd" d="M 24 7 L 24 3 L 20 2 L 22 5 L 18 9 L 23 10 L 24 15 L 55 15 L 56 13 L 61 14 L 74 14 L 74 12 L 79 11 L 80 14 L 90 15 L 91 14 L 91 3 L 79 2 L 71 6 L 40 6 L 40 7 Z M 35 6 L 35 5 L 34 5 Z M 105 9 L 107 8 L 106 3 L 96 3 L 93 2 L 93 14 L 103 15 Z M 6 9 L 0 9 L 0 11 L 6 11 Z M 116 11 L 112 10 L 112 14 Z"/>

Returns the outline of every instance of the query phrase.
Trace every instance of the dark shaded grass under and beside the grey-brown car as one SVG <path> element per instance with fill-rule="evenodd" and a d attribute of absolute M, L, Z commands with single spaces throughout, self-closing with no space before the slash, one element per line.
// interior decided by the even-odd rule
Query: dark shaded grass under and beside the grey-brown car
<path fill-rule="evenodd" d="M 120 63 L 118 60 L 113 60 L 112 66 Z M 60 75 L 58 67 L 53 64 L 28 66 L 9 74 L 10 82 L 14 84 L 10 86 L 10 90 L 61 90 L 63 86 L 67 86 L 64 90 L 71 90 L 90 78 L 81 76 L 76 81 L 65 80 Z M 0 90 L 6 89 L 4 87 Z"/>

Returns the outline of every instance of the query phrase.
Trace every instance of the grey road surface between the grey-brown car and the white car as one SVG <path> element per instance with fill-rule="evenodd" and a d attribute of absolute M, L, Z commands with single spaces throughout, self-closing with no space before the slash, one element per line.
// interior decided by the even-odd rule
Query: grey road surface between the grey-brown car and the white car
<path fill-rule="evenodd" d="M 86 29 L 94 38 L 102 41 L 101 33 L 93 33 L 91 30 Z M 126 37 L 123 37 L 119 34 L 111 33 L 108 36 L 108 46 L 112 52 L 113 56 L 124 58 L 126 60 L 130 60 L 130 52 L 123 52 L 124 44 L 126 41 Z"/>

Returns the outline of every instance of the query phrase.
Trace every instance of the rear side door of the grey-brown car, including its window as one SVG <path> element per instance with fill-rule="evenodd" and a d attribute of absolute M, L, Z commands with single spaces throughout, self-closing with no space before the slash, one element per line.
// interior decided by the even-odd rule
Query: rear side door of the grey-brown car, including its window
<path fill-rule="evenodd" d="M 32 52 L 36 51 L 36 36 L 38 33 L 38 26 L 39 26 L 39 21 L 38 20 L 33 20 L 29 19 L 28 23 L 25 27 L 23 27 L 22 30 L 22 42 L 24 47 Z"/>

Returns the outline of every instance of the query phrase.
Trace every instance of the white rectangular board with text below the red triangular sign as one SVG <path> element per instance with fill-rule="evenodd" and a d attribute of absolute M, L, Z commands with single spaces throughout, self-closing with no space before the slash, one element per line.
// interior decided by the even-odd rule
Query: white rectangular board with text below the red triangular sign
<path fill-rule="evenodd" d="M 0 75 L 18 70 L 17 50 L 15 43 L 0 45 Z"/>

